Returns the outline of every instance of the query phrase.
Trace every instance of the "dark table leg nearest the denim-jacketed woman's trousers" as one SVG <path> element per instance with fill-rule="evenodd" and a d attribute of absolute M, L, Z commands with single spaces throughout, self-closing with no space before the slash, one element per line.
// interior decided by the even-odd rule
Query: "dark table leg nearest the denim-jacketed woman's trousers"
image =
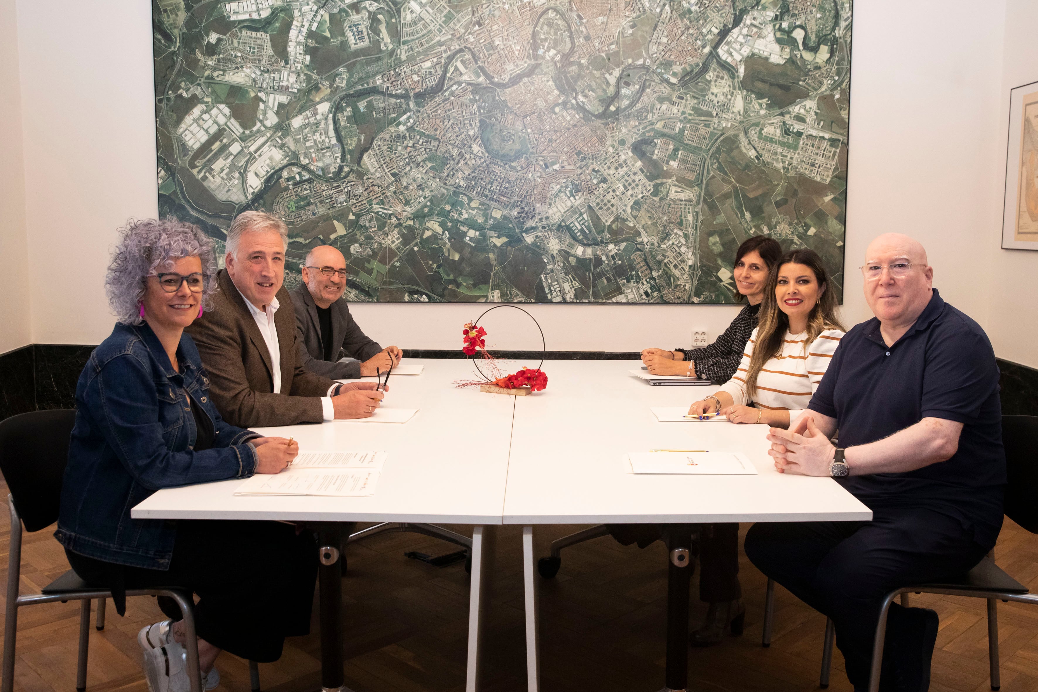
<path fill-rule="evenodd" d="M 347 532 L 352 524 L 345 525 Z M 321 619 L 321 690 L 349 692 L 343 683 L 343 573 L 339 560 L 343 524 L 318 527 L 318 568 Z"/>

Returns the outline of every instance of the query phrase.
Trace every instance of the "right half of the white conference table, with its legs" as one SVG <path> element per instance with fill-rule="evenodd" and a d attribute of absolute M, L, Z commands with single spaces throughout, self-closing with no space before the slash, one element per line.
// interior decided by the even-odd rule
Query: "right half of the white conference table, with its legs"
<path fill-rule="evenodd" d="M 539 689 L 535 524 L 706 524 L 867 521 L 872 513 L 831 478 L 781 474 L 767 454 L 766 425 L 725 420 L 659 422 L 650 407 L 688 407 L 716 387 L 650 386 L 629 373 L 638 361 L 549 361 L 548 388 L 519 396 L 512 428 L 506 524 L 523 526 L 527 683 Z M 743 452 L 757 475 L 635 475 L 629 451 Z M 684 536 L 689 539 L 688 532 Z M 675 546 L 672 543 L 672 548 Z M 687 677 L 689 562 L 672 559 L 666 688 Z M 683 568 L 683 569 L 682 569 Z"/>

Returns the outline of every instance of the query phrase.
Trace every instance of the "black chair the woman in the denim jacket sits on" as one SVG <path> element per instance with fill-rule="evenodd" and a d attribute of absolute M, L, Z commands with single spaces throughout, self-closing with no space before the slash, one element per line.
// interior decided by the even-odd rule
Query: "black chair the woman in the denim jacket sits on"
<path fill-rule="evenodd" d="M 7 609 L 4 618 L 3 683 L 0 692 L 15 688 L 15 640 L 18 636 L 18 609 L 37 603 L 81 601 L 79 620 L 79 664 L 76 690 L 86 689 L 86 660 L 90 634 L 90 601 L 104 604 L 112 592 L 87 585 L 72 570 L 45 586 L 39 593 L 19 594 L 22 568 L 22 531 L 47 528 L 58 519 L 61 481 L 69 458 L 69 438 L 76 420 L 75 411 L 33 411 L 0 421 L 0 471 L 10 494 L 10 552 L 7 559 Z M 128 588 L 127 596 L 167 596 L 184 615 L 188 641 L 188 676 L 191 692 L 202 692 L 198 671 L 198 646 L 195 642 L 194 599 L 181 588 Z M 98 629 L 104 628 L 104 606 L 98 610 Z M 253 680 L 253 687 L 257 687 Z"/>

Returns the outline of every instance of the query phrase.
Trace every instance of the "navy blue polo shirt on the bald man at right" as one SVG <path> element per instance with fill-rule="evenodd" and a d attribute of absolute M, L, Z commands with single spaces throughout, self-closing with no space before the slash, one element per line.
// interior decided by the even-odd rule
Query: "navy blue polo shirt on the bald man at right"
<path fill-rule="evenodd" d="M 948 461 L 838 480 L 873 510 L 934 509 L 973 530 L 981 546 L 994 546 L 1006 485 L 999 365 L 980 325 L 936 288 L 892 347 L 875 317 L 847 332 L 809 408 L 837 419 L 842 447 L 875 442 L 923 418 L 962 423 L 958 451 Z"/>

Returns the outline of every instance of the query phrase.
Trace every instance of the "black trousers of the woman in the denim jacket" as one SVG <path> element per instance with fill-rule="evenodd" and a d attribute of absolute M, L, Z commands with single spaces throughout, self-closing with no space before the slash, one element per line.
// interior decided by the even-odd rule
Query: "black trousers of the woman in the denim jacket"
<path fill-rule="evenodd" d="M 87 583 L 109 585 L 113 565 L 65 551 Z M 179 521 L 169 570 L 121 568 L 126 587 L 179 586 L 198 594 L 198 636 L 243 659 L 271 663 L 285 637 L 310 631 L 318 551 L 310 531 L 277 522 Z M 171 599 L 167 616 L 181 618 Z"/>

